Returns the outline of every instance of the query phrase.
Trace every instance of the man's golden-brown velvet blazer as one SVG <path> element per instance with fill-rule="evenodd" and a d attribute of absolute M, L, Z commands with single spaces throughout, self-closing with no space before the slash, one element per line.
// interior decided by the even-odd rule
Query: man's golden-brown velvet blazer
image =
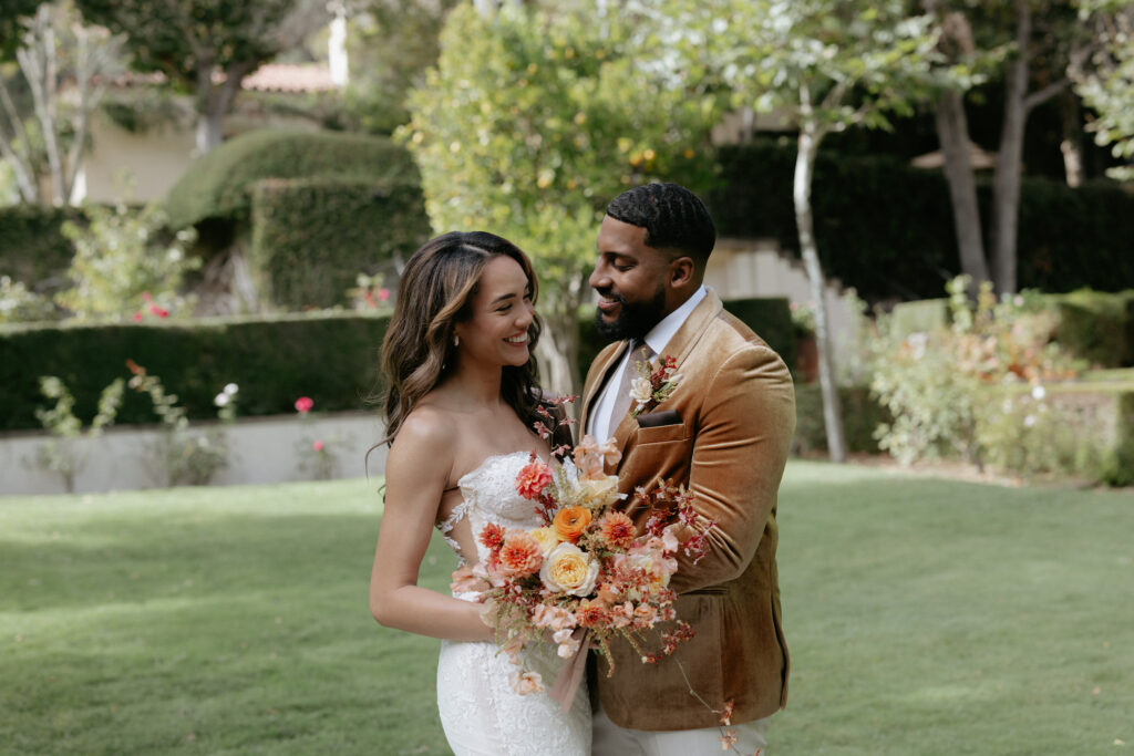
<path fill-rule="evenodd" d="M 625 341 L 612 343 L 591 365 L 581 427 L 625 349 Z M 677 615 L 696 636 L 657 665 L 643 664 L 629 644 L 616 642 L 613 676 L 607 677 L 600 660 L 591 685 L 607 715 L 636 730 L 716 727 L 719 713 L 697 702 L 691 686 L 718 712 L 731 700 L 734 723 L 762 719 L 787 698 L 776 494 L 795 431 L 792 376 L 711 291 L 665 354 L 676 358 L 683 376 L 672 396 L 636 418 L 611 421 L 623 452 L 618 489 L 633 493 L 658 478 L 686 484 L 699 513 L 717 520 L 709 552 L 696 564 L 680 555 L 670 585 L 680 594 Z M 641 530 L 648 511 L 626 507 Z"/>

